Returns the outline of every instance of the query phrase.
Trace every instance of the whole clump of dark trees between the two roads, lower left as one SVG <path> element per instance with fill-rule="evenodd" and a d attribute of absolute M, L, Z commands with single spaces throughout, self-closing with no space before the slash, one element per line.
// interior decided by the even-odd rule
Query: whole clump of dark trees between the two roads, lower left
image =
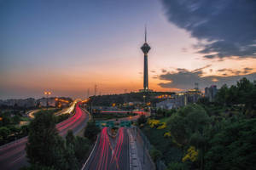
<path fill-rule="evenodd" d="M 30 167 L 23 169 L 79 169 L 90 150 L 90 140 L 68 131 L 63 139 L 55 127 L 51 112 L 36 114 L 29 125 L 26 156 Z"/>

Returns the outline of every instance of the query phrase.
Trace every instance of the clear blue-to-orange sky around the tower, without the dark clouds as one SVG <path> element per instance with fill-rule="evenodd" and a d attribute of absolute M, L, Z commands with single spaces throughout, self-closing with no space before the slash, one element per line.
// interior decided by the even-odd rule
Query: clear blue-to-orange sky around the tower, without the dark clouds
<path fill-rule="evenodd" d="M 218 70 L 224 68 L 234 71 L 250 68 L 246 74 L 254 73 L 253 56 L 241 60 L 231 54 L 229 58 L 210 59 L 205 58 L 206 54 L 197 53 L 194 47 L 201 41 L 200 37 L 180 24 L 179 20 L 184 18 L 180 18 L 179 12 L 184 9 L 174 3 L 0 1 L 0 98 L 38 98 L 46 89 L 53 95 L 83 98 L 87 88 L 92 91 L 95 84 L 102 94 L 142 88 L 140 46 L 145 24 L 152 47 L 148 58 L 149 88 L 160 91 L 193 88 L 193 80 L 189 86 L 178 78 L 172 83 L 170 74 L 179 77 L 178 68 L 190 72 L 211 65 L 198 75 L 198 81 L 201 77 L 222 76 Z M 177 10 L 172 9 L 174 5 Z M 170 18 L 170 14 L 174 18 Z M 239 76 L 228 70 L 225 74 Z M 209 80 L 201 84 L 201 88 L 213 83 Z M 219 84 L 224 83 L 223 78 L 221 80 Z"/>

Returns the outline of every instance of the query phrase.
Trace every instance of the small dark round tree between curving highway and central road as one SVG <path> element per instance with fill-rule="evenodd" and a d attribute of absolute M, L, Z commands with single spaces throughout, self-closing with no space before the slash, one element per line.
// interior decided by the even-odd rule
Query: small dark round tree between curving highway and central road
<path fill-rule="evenodd" d="M 98 133 L 101 132 L 101 129 L 96 126 L 96 123 L 90 121 L 87 123 L 87 127 L 84 131 L 84 137 L 90 139 L 90 141 L 94 141 Z"/>

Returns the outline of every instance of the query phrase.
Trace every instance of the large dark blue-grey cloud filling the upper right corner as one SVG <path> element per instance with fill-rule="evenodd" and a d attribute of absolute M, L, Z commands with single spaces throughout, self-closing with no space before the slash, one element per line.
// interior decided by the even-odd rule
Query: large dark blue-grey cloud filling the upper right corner
<path fill-rule="evenodd" d="M 205 58 L 256 58 L 255 0 L 161 1 L 168 20 L 200 40 Z"/>

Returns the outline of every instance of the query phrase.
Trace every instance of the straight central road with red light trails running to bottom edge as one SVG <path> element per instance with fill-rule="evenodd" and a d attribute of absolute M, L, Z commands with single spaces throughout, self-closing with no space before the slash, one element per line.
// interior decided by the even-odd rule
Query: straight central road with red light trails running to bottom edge
<path fill-rule="evenodd" d="M 115 138 L 108 135 L 108 127 L 102 128 L 96 144 L 83 170 L 129 170 L 129 136 L 125 127 L 120 127 Z"/>

